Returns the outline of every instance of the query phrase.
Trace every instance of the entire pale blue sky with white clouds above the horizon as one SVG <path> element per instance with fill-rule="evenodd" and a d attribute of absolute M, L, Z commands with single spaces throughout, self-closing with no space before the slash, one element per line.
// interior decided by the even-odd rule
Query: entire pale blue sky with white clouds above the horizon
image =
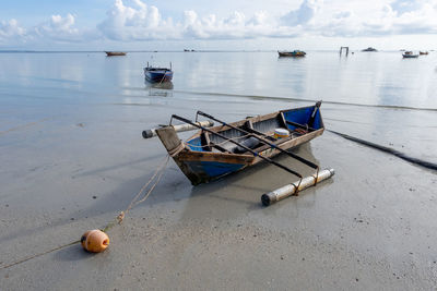
<path fill-rule="evenodd" d="M 0 0 L 0 50 L 437 49 L 437 0 Z"/>

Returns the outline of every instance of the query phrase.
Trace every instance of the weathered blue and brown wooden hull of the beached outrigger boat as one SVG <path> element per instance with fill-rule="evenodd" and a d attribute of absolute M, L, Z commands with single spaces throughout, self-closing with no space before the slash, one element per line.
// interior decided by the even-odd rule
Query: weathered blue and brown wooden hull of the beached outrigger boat
<path fill-rule="evenodd" d="M 249 118 L 243 121 L 231 123 L 231 125 L 243 128 L 245 124 L 253 124 L 253 129 L 262 130 L 268 135 L 273 135 L 274 128 L 279 126 L 281 119 L 284 121 L 292 120 L 293 118 L 299 123 L 304 123 L 305 119 L 309 118 L 310 112 L 314 111 L 314 107 L 299 108 L 297 110 L 305 111 L 305 114 L 293 113 L 293 110 L 279 111 L 265 116 L 259 116 L 255 118 Z M 297 111 L 296 111 L 297 112 Z M 291 131 L 291 136 L 285 138 L 272 140 L 272 143 L 284 150 L 288 150 L 293 147 L 299 146 L 304 143 L 311 141 L 312 138 L 321 135 L 324 131 L 323 122 L 321 120 L 320 110 L 317 111 L 316 126 L 302 135 L 294 135 L 293 132 L 296 128 L 292 124 L 287 124 L 287 129 Z M 273 131 L 272 131 L 273 129 Z M 229 126 L 215 126 L 211 128 L 211 131 L 216 131 L 223 135 L 234 138 L 238 136 L 237 131 L 231 129 Z M 281 153 L 280 149 L 273 148 L 269 145 L 260 144 L 253 150 L 256 155 L 251 153 L 235 154 L 235 147 L 232 149 L 232 144 L 222 143 L 223 149 L 228 149 L 225 153 L 208 150 L 208 146 L 202 145 L 202 140 L 205 133 L 201 131 L 190 137 L 186 143 L 181 143 L 177 137 L 176 132 L 173 126 L 166 126 L 156 131 L 158 137 L 163 142 L 164 146 L 167 148 L 170 156 L 174 158 L 175 162 L 178 165 L 180 170 L 191 181 L 193 185 L 201 183 L 208 183 L 224 175 L 240 171 L 247 167 L 253 166 L 263 160 L 262 157 L 272 158 Z M 241 137 L 241 136 L 240 136 Z M 213 141 L 213 136 L 210 142 L 213 144 L 218 144 L 218 140 Z M 211 143 L 208 143 L 208 145 Z"/>

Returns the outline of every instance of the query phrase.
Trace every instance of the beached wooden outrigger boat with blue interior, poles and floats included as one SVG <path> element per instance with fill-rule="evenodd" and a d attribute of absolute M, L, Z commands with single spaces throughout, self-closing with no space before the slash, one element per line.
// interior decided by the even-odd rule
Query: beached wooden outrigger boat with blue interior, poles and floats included
<path fill-rule="evenodd" d="M 263 195 L 262 203 L 270 205 L 333 175 L 332 169 L 319 171 L 319 167 L 314 162 L 288 151 L 323 133 L 320 105 L 319 101 L 314 106 L 281 110 L 233 123 L 226 123 L 201 111 L 197 112 L 196 122 L 174 114 L 169 125 L 143 131 L 142 134 L 144 138 L 157 135 L 193 185 L 240 171 L 260 161 L 268 161 L 297 175 L 299 181 L 284 186 L 283 191 L 280 189 Z M 221 124 L 208 128 L 212 125 L 212 122 L 197 122 L 199 116 Z M 172 125 L 174 119 L 185 124 Z M 200 129 L 200 131 L 186 142 L 177 136 L 176 132 L 193 129 Z M 303 178 L 293 169 L 271 159 L 280 153 L 314 168 L 315 175 L 309 179 Z M 286 191 L 285 187 L 287 187 Z M 285 192 L 287 193 L 284 194 Z"/>

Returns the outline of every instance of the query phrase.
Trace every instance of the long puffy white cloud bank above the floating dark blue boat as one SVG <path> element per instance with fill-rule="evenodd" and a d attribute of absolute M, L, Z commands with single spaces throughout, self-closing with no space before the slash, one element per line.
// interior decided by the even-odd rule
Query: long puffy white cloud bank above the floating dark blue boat
<path fill-rule="evenodd" d="M 181 22 L 174 23 L 172 19 L 164 20 L 157 8 L 147 7 L 140 0 L 135 0 L 132 7 L 116 0 L 97 27 L 108 39 L 128 41 L 283 37 L 294 36 L 297 32 L 280 27 L 277 20 L 265 11 L 251 17 L 234 11 L 227 17 L 218 19 L 215 14 L 199 16 L 196 11 L 187 10 Z"/>

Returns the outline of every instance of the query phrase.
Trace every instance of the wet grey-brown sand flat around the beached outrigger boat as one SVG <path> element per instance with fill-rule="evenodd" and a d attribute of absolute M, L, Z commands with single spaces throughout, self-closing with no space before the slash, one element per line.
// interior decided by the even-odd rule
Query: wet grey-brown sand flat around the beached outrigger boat
<path fill-rule="evenodd" d="M 298 197 L 261 206 L 261 194 L 295 181 L 272 166 L 193 187 L 170 161 L 152 196 L 109 231 L 104 253 L 75 244 L 1 268 L 79 240 L 126 209 L 165 157 L 161 143 L 142 140 L 141 131 L 176 109 L 192 116 L 194 106 L 210 107 L 172 100 L 168 109 L 165 102 L 152 101 L 146 110 L 102 105 L 3 131 L 2 290 L 437 286 L 436 173 L 329 132 L 296 153 L 335 169 L 335 175 Z M 250 105 L 233 110 L 212 113 L 236 120 L 251 112 Z M 335 118 L 329 110 L 323 116 Z M 277 160 L 310 173 L 285 157 Z"/>

